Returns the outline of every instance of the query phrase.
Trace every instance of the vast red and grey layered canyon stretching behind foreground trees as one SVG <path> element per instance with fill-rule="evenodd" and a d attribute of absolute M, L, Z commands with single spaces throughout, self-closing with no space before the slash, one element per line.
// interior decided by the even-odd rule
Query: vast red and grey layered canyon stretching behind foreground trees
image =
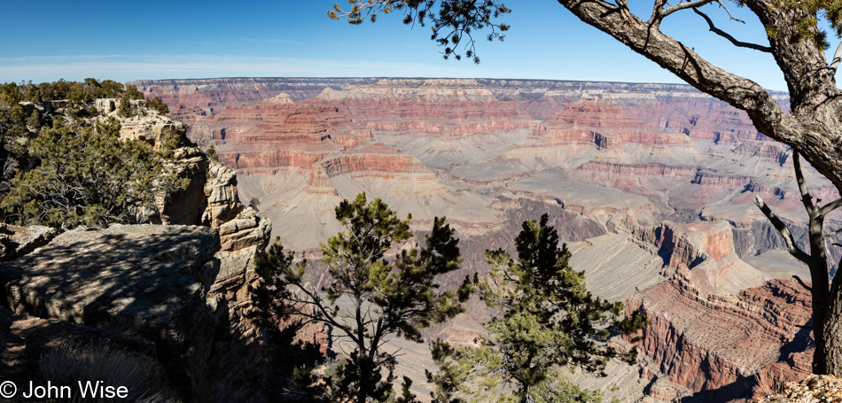
<path fill-rule="evenodd" d="M 636 366 L 572 374 L 621 401 L 729 401 L 800 380 L 810 301 L 806 267 L 752 198 L 804 244 L 791 151 L 744 112 L 684 85 L 466 79 L 135 81 L 189 136 L 237 171 L 272 237 L 312 258 L 340 228 L 333 207 L 365 191 L 429 230 L 457 229 L 462 272 L 486 274 L 486 249 L 512 249 L 520 223 L 550 214 L 590 291 L 649 315 Z M 788 97 L 777 94 L 788 107 Z M 838 198 L 812 169 L 811 193 Z M 838 215 L 829 229 L 842 225 Z M 838 249 L 830 260 L 838 261 Z M 313 281 L 324 281 L 315 276 Z M 467 314 L 427 337 L 471 343 Z M 628 342 L 612 343 L 628 348 Z M 405 345 L 405 360 L 425 354 Z M 420 381 L 420 370 L 404 366 Z M 417 382 L 416 384 L 423 384 Z"/>

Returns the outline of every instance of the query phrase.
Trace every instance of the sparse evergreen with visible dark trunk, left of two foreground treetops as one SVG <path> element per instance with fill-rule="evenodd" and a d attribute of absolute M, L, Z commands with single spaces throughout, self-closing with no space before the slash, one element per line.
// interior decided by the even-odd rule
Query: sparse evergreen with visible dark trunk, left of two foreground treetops
<path fill-rule="evenodd" d="M 420 329 L 446 321 L 464 311 L 471 290 L 468 279 L 457 290 L 443 291 L 440 276 L 459 268 L 454 230 L 435 218 L 433 229 L 419 248 L 400 248 L 412 236 L 410 217 L 401 220 L 380 199 L 365 194 L 343 200 L 336 219 L 345 228 L 321 244 L 330 282 L 316 290 L 305 280 L 307 261 L 292 263 L 276 241 L 255 259 L 261 283 L 254 300 L 257 316 L 271 326 L 273 316 L 293 323 L 325 323 L 339 335 L 338 343 L 353 350 L 325 371 L 321 382 L 308 385 L 311 396 L 328 401 L 386 401 L 392 399 L 397 362 L 384 350 L 387 337 L 422 342 Z M 394 252 L 394 251 L 393 251 Z M 405 382 L 404 382 L 405 384 Z M 318 389 L 319 391 L 313 391 Z M 316 399 L 316 398 L 313 398 Z M 406 389 L 400 401 L 414 399 Z"/>

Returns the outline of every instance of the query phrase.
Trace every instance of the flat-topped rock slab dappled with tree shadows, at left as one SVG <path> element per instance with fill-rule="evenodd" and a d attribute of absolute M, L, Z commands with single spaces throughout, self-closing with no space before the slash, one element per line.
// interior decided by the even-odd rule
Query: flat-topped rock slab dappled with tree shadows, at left
<path fill-rule="evenodd" d="M 219 270 L 214 229 L 122 226 L 75 229 L 4 266 L 16 314 L 115 329 L 151 340 L 172 380 L 209 400 L 214 312 L 207 288 Z"/>

